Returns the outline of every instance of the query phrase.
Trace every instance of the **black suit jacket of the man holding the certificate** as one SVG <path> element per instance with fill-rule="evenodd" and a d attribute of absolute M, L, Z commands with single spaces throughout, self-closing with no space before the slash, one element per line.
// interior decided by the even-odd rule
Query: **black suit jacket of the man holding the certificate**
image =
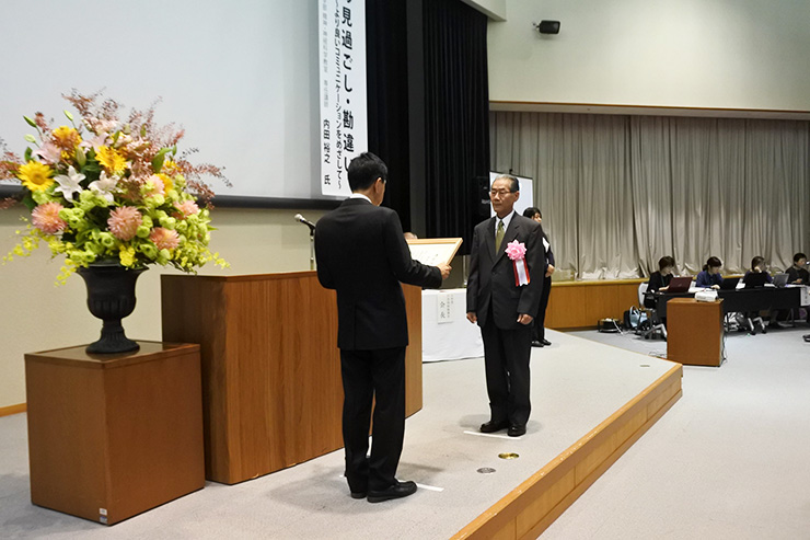
<path fill-rule="evenodd" d="M 380 349 L 408 344 L 400 282 L 441 286 L 441 272 L 410 258 L 396 212 L 349 198 L 315 227 L 317 278 L 337 290 L 337 346 Z"/>

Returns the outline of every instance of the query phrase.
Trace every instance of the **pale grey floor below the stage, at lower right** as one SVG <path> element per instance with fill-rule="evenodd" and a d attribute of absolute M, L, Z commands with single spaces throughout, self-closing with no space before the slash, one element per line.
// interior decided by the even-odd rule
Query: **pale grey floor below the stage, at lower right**
<path fill-rule="evenodd" d="M 720 368 L 684 366 L 683 398 L 542 538 L 810 538 L 808 332 L 730 333 Z M 667 351 L 633 334 L 575 335 Z"/>

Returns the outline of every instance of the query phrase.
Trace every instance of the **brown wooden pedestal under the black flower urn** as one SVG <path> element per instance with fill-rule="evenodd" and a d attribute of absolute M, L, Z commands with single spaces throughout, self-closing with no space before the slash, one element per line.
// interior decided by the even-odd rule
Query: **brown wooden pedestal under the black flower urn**
<path fill-rule="evenodd" d="M 205 485 L 199 345 L 25 355 L 31 501 L 112 525 Z"/>

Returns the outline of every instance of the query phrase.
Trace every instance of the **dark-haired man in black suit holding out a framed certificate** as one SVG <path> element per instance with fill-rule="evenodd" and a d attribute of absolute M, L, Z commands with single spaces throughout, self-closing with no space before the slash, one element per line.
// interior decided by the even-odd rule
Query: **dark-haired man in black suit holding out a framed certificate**
<path fill-rule="evenodd" d="M 400 282 L 438 288 L 450 266 L 410 258 L 400 218 L 380 206 L 387 168 L 372 153 L 351 160 L 351 197 L 315 227 L 321 285 L 337 290 L 337 346 L 344 387 L 346 479 L 354 498 L 405 497 L 414 482 L 396 480 L 405 435 L 405 347 L 408 328 Z M 374 430 L 369 427 L 372 399 Z"/>

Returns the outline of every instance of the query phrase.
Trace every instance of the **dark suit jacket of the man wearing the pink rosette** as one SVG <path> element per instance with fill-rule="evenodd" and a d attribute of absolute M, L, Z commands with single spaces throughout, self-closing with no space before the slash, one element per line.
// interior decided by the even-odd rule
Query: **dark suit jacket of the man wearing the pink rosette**
<path fill-rule="evenodd" d="M 533 315 L 537 312 L 545 276 L 545 250 L 540 225 L 516 214 L 509 221 L 504 242 L 496 253 L 495 225 L 496 219 L 489 218 L 478 223 L 473 232 L 467 277 L 467 312 L 474 311 L 478 325 L 484 326 L 491 305 L 495 325 L 513 330 L 521 326 L 518 322 L 520 313 Z M 514 284 L 514 266 L 506 255 L 506 246 L 513 240 L 522 242 L 526 248 L 530 283 L 522 287 Z"/>

